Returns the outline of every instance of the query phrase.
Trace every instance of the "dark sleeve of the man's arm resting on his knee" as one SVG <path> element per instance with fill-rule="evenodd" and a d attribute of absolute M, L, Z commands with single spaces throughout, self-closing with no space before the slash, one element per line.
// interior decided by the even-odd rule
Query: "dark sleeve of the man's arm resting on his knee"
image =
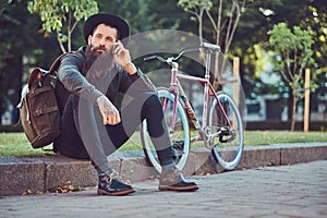
<path fill-rule="evenodd" d="M 61 60 L 57 76 L 70 93 L 95 104 L 96 99 L 104 94 L 82 74 L 83 61 L 84 58 L 78 52 L 65 56 Z"/>

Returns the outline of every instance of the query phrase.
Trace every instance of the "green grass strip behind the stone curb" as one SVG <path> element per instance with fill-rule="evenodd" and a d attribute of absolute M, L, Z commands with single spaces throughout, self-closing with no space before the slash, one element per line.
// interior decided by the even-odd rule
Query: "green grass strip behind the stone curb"
<path fill-rule="evenodd" d="M 246 131 L 246 145 L 270 145 L 281 143 L 306 143 L 306 142 L 327 142 L 326 132 L 288 132 L 288 131 Z M 51 149 L 49 145 L 45 147 Z M 120 150 L 142 149 L 138 134 L 124 145 Z M 0 157 L 9 156 L 47 156 L 55 155 L 52 152 L 34 149 L 29 145 L 24 133 L 0 133 Z"/>

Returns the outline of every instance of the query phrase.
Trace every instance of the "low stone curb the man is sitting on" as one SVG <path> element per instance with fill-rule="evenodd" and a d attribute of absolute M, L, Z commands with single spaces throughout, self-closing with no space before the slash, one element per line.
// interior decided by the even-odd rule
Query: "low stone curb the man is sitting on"
<path fill-rule="evenodd" d="M 326 159 L 327 142 L 245 146 L 238 169 Z M 158 175 L 148 167 L 142 152 L 117 153 L 110 156 L 108 161 L 120 172 L 123 180 L 131 183 L 155 179 Z M 206 148 L 192 149 L 183 169 L 185 175 L 221 171 L 223 170 L 211 161 L 210 152 Z M 27 190 L 45 192 L 68 181 L 75 186 L 94 186 L 97 183 L 97 174 L 88 160 L 63 156 L 0 158 L 0 196 L 20 195 Z"/>

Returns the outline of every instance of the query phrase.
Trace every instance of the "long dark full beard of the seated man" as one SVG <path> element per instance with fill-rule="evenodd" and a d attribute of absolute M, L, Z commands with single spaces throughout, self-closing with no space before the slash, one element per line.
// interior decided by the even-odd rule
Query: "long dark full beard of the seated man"
<path fill-rule="evenodd" d="M 102 46 L 88 45 L 85 49 L 85 61 L 82 73 L 99 77 L 113 66 L 113 55 Z"/>

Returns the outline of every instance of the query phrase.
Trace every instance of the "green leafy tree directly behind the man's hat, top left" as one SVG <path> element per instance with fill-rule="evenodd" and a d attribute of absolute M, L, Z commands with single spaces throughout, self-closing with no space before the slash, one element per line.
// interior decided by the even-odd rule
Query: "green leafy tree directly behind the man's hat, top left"
<path fill-rule="evenodd" d="M 45 36 L 56 32 L 61 51 L 66 52 L 72 50 L 72 33 L 78 21 L 97 13 L 98 5 L 95 0 L 33 0 L 28 10 L 39 14 Z"/>

